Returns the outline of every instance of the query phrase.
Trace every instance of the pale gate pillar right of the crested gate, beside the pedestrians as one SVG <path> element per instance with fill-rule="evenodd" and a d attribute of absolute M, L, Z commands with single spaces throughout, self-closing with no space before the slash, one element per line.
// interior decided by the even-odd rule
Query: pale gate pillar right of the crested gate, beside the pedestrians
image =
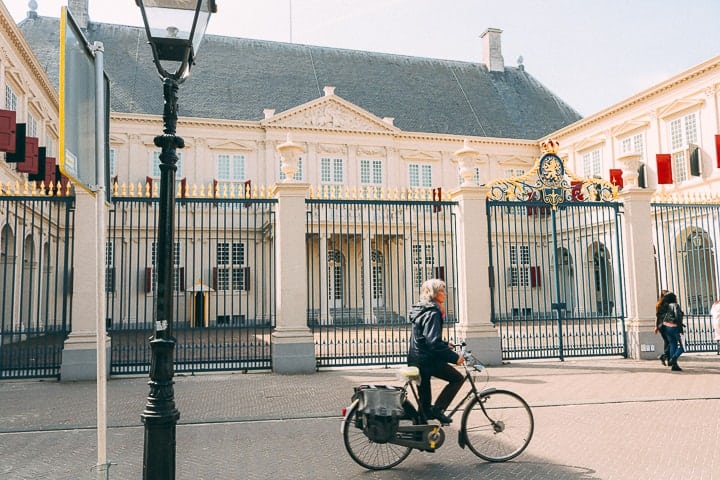
<path fill-rule="evenodd" d="M 655 302 L 658 288 L 654 272 L 651 189 L 630 186 L 620 193 L 624 205 L 622 216 L 625 251 L 626 326 L 628 355 L 636 360 L 655 360 L 662 353 L 663 342 L 655 330 Z"/>

